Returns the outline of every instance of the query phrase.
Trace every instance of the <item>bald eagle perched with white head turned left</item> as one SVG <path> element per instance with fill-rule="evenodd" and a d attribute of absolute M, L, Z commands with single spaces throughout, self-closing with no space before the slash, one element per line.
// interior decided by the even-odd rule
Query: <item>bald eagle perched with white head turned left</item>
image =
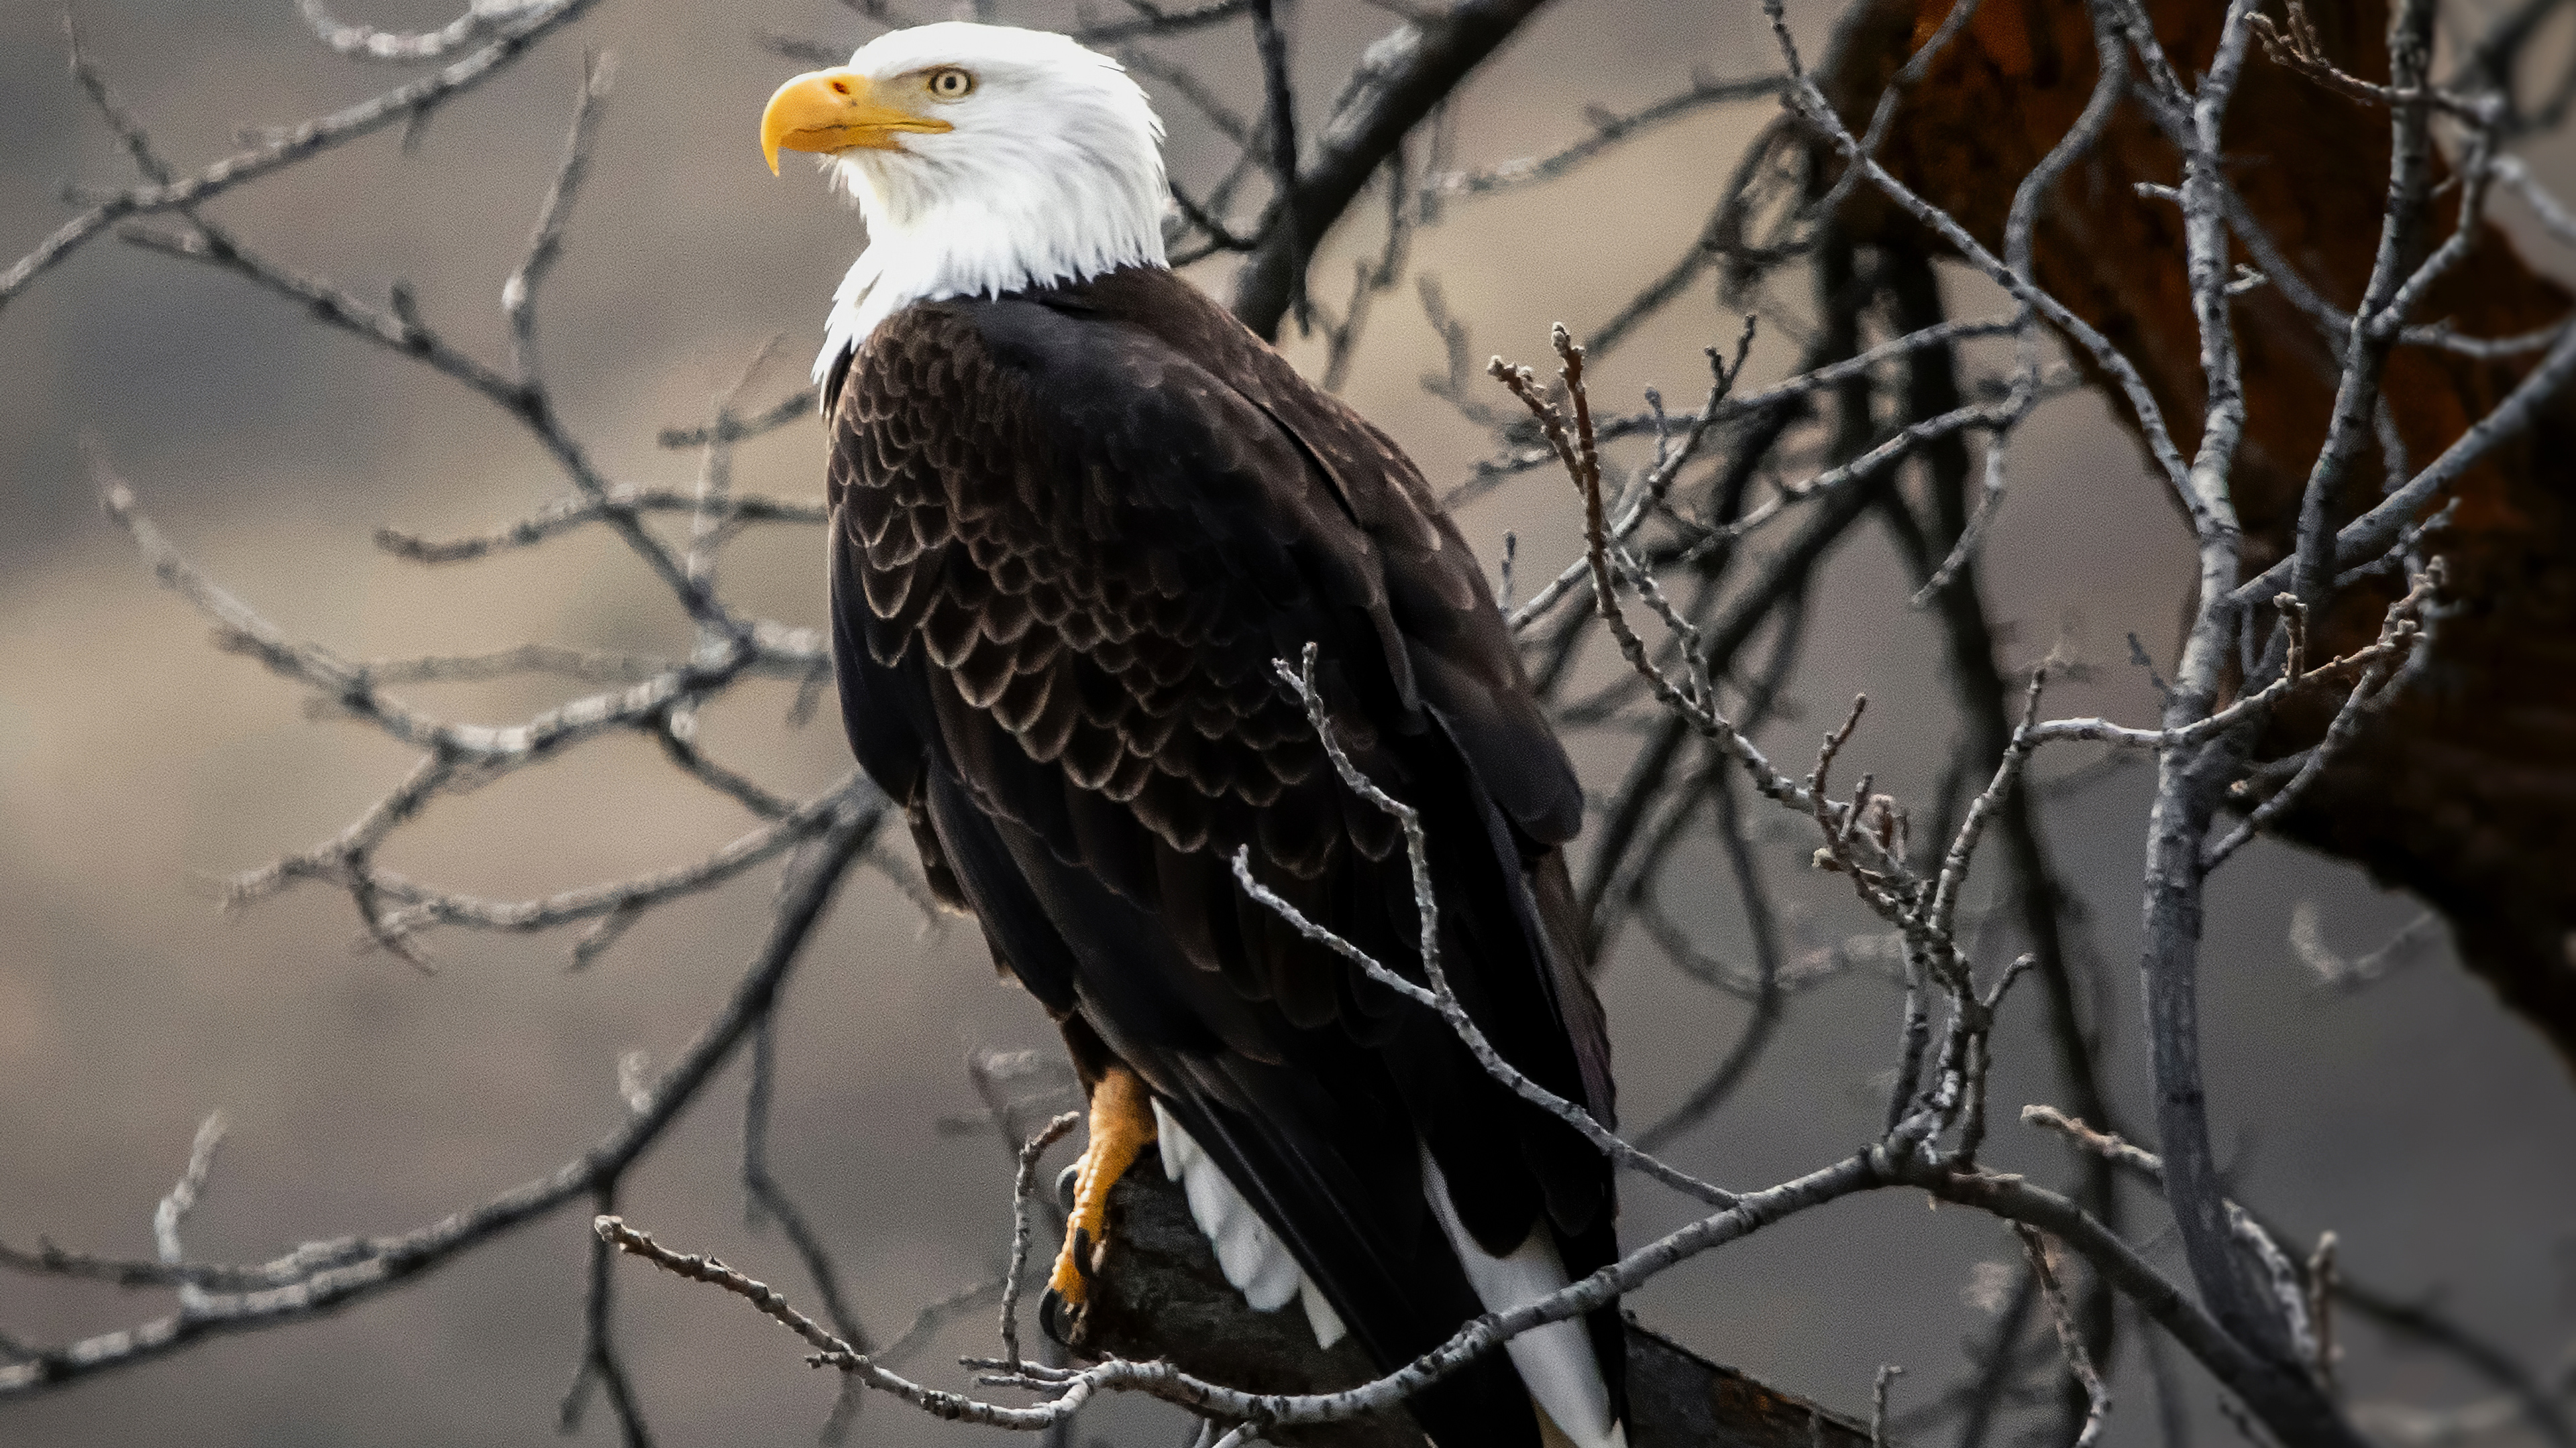
<path fill-rule="evenodd" d="M 1602 1154 L 1231 876 L 1247 848 L 1422 976 L 1401 835 L 1273 672 L 1314 644 L 1334 734 L 1425 819 L 1463 1005 L 1613 1118 L 1574 768 L 1414 464 L 1164 265 L 1146 95 L 1066 36 L 938 23 L 788 80 L 760 131 L 868 227 L 814 363 L 850 747 L 1090 1095 L 1059 1314 L 1157 1139 L 1244 1299 L 1381 1368 L 1610 1262 Z M 1602 1306 L 1409 1407 L 1443 1448 L 1602 1448 L 1623 1363 Z"/>

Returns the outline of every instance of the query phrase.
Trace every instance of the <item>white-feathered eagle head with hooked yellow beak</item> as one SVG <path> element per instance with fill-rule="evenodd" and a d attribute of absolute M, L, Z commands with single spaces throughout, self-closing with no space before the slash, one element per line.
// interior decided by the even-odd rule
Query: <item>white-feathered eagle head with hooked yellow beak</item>
<path fill-rule="evenodd" d="M 1162 121 L 1066 36 L 945 21 L 889 31 L 770 95 L 760 149 L 817 152 L 858 198 L 814 379 L 912 301 L 1162 265 Z"/>

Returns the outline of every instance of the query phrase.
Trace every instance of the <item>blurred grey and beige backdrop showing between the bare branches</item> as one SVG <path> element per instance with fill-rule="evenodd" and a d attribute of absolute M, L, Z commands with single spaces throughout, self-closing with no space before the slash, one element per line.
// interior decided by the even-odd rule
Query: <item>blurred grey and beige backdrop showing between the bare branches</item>
<path fill-rule="evenodd" d="M 1007 3 L 1005 18 L 1072 23 L 1072 8 Z M 100 64 L 165 152 L 198 165 L 237 126 L 294 121 L 381 90 L 394 72 L 312 41 L 289 0 L 88 0 Z M 376 0 L 363 18 L 435 26 L 451 10 Z M 1821 44 L 1832 10 L 1798 21 Z M 1329 85 L 1394 21 L 1355 0 L 1293 10 L 1309 124 Z M 755 384 L 801 384 L 824 301 L 863 245 L 855 214 L 806 167 L 773 180 L 755 119 L 801 70 L 760 31 L 848 49 L 873 33 L 822 0 L 706 5 L 616 0 L 443 108 L 404 152 L 379 134 L 224 198 L 214 214 L 291 265 L 361 296 L 407 278 L 459 343 L 500 356 L 500 281 L 518 265 L 556 165 L 582 46 L 618 57 L 595 175 L 546 291 L 541 348 L 556 399 L 618 482 L 685 487 L 696 459 L 654 446 L 698 423 L 757 348 L 786 335 Z M 1167 54 L 1257 111 L 1239 26 Z M 1636 108 L 1692 72 L 1775 67 L 1749 3 L 1561 0 L 1455 103 L 1453 165 L 1492 165 L 1582 137 L 1587 106 Z M 1149 82 L 1157 95 L 1162 90 Z M 15 255 L 67 214 L 67 178 L 124 186 L 124 157 L 72 85 L 59 15 L 0 8 L 0 250 Z M 1226 157 L 1177 103 L 1175 165 L 1206 178 Z M 1453 198 L 1412 247 L 1476 356 L 1546 353 L 1548 322 L 1577 335 L 1615 314 L 1698 232 L 1708 198 L 1770 100 L 1708 108 L 1628 142 L 1571 178 Z M 1350 260 L 1378 234 L 1368 204 L 1316 260 L 1340 299 Z M 1218 258 L 1198 276 L 1224 294 Z M 1968 278 L 1947 278 L 1971 307 Z M 1739 322 L 1705 289 L 1667 309 L 1595 376 L 1602 397 L 1662 386 L 1677 407 L 1705 381 L 1700 348 Z M 1288 353 L 1321 368 L 1321 345 Z M 1754 379 L 1790 366 L 1795 340 L 1765 335 Z M 1381 299 L 1345 394 L 1388 428 L 1435 484 L 1468 477 L 1492 441 L 1419 386 L 1443 350 L 1412 289 Z M 1497 394 L 1497 402 L 1502 397 Z M 742 969 L 775 871 L 683 902 L 585 971 L 567 938 L 443 933 L 438 969 L 350 948 L 343 894 L 307 886 L 219 915 L 214 881 L 337 832 L 407 768 L 363 727 L 309 721 L 299 693 L 206 644 L 201 618 L 155 587 L 98 513 L 82 438 L 131 479 L 147 510 L 206 569 L 289 634 L 345 657 L 479 652 L 544 639 L 685 652 L 688 624 L 605 533 L 471 569 L 379 554 L 379 526 L 448 536 L 531 513 L 562 492 L 551 464 L 487 402 L 399 358 L 299 317 L 206 268 L 100 242 L 0 314 L 0 1237 L 149 1257 L 149 1216 L 222 1108 L 232 1136 L 191 1221 L 198 1260 L 260 1260 L 301 1239 L 402 1232 L 549 1170 L 621 1116 L 626 1051 L 675 1056 Z M 737 484 L 819 492 L 822 433 L 799 423 L 750 446 Z M 2014 456 L 2017 490 L 1986 551 L 2007 654 L 2061 639 L 2097 665 L 2053 714 L 2151 716 L 2125 634 L 2169 652 L 2187 531 L 2141 472 L 2128 435 L 2089 397 L 2053 402 Z M 1461 518 L 1497 559 L 1517 531 L 1522 580 L 1577 557 L 1561 479 L 1479 500 Z M 822 618 L 819 533 L 755 531 L 726 564 L 732 598 L 770 618 Z M 1528 587 L 1528 582 L 1522 585 Z M 1814 644 L 1793 680 L 1803 714 L 1765 745 L 1803 757 L 1855 691 L 1873 698 L 1855 745 L 1899 796 L 1929 791 L 1950 745 L 1932 618 L 1906 608 L 1904 569 L 1878 533 L 1834 557 Z M 559 685 L 415 691 L 448 716 L 507 719 Z M 762 783 L 814 791 L 848 768 L 832 714 L 791 729 L 793 685 L 747 685 L 706 719 L 706 742 Z M 2063 773 L 2069 752 L 2043 763 Z M 1592 783 L 1618 755 L 1587 745 Z M 2107 1080 L 2146 1118 L 2136 1043 L 2136 920 L 2146 770 L 2050 801 L 2061 868 L 2089 907 L 2084 958 Z M 613 737 L 469 801 L 440 806 L 386 861 L 453 889 L 533 897 L 703 855 L 742 814 L 680 781 L 641 739 Z M 1816 930 L 1862 930 L 1850 889 L 1801 871 L 1808 843 L 1765 837 L 1785 897 Z M 1685 855 L 1677 873 L 1716 853 Z M 1718 951 L 1739 943 L 1716 884 L 1687 920 Z M 2347 1268 L 2447 1314 L 2530 1363 L 2576 1337 L 2576 1092 L 2568 1072 L 2442 948 L 2360 995 L 2326 995 L 2290 948 L 2311 907 L 2347 956 L 2375 948 L 2421 907 L 2357 871 L 2275 843 L 2215 881 L 2205 953 L 2213 1121 L 2236 1193 L 2300 1242 L 2334 1229 Z M 1996 956 L 1989 964 L 1999 964 Z M 1631 1121 L 1659 1118 L 1726 1051 L 1744 1005 L 1695 989 L 1662 958 L 1623 948 L 1602 971 Z M 1054 1051 L 1054 1031 L 994 979 L 971 925 L 938 925 L 881 876 L 858 873 L 799 969 L 781 1033 L 773 1154 L 840 1260 L 853 1306 L 878 1335 L 987 1275 L 1010 1232 L 1010 1162 L 987 1136 L 940 1131 L 974 1110 L 963 1059 L 981 1046 Z M 2035 997 L 2007 1007 L 1996 1105 L 2050 1100 Z M 1801 997 L 1754 1080 L 1674 1157 L 1726 1185 L 1765 1185 L 1847 1152 L 1878 1129 L 1893 1059 L 1896 989 L 1868 971 Z M 1999 1126 L 1991 1159 L 2043 1180 L 2063 1154 Z M 626 1211 L 690 1250 L 793 1281 L 775 1232 L 750 1232 L 734 1177 L 734 1077 L 647 1157 Z M 1631 1188 L 1625 1237 L 1687 1216 Z M 2146 1219 L 2146 1214 L 2133 1214 Z M 2141 1229 L 2151 1234 L 2154 1229 Z M 2164 1262 L 2177 1252 L 2151 1239 Z M 0 1440 L 106 1443 L 533 1443 L 554 1435 L 580 1353 L 587 1211 L 562 1211 L 355 1311 L 201 1345 L 52 1396 L 0 1407 Z M 1698 1257 L 1633 1299 L 1692 1348 L 1839 1409 L 1865 1412 L 1878 1363 L 1929 1396 L 1963 1366 L 1994 1311 L 1986 1262 L 2012 1260 L 1989 1219 L 1927 1211 L 1896 1193 L 1793 1219 Z M 167 1309 L 165 1293 L 0 1278 L 0 1332 L 57 1342 Z M 835 1384 L 739 1304 L 621 1268 L 629 1368 L 662 1443 L 806 1443 Z M 2156 1440 L 2136 1335 L 2115 1363 L 2115 1443 Z M 2427 1355 L 2349 1329 L 2360 1399 L 2460 1404 L 2488 1389 Z M 992 1350 L 971 1311 L 914 1360 L 966 1386 L 956 1353 Z M 2187 1376 L 2202 1440 L 2233 1438 L 2213 1391 Z M 582 1438 L 611 1440 L 605 1412 Z M 1950 1430 L 1942 1427 L 1942 1435 Z M 858 1443 L 989 1443 L 873 1402 Z M 1087 1412 L 1082 1440 L 1180 1443 L 1177 1415 L 1126 1402 Z M 2501 1440 L 2514 1440 L 2504 1435 Z"/>

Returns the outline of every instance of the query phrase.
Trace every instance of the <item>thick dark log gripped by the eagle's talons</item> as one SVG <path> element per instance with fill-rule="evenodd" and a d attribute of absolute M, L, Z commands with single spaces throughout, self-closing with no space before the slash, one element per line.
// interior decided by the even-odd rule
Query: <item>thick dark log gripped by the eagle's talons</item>
<path fill-rule="evenodd" d="M 1252 1311 L 1226 1286 L 1180 1188 L 1146 1152 L 1110 1196 L 1110 1247 L 1092 1278 L 1092 1306 L 1074 1340 L 1087 1358 L 1170 1358 L 1180 1368 L 1257 1391 L 1334 1391 L 1376 1373 L 1345 1337 L 1314 1345 L 1306 1314 Z M 1280 1427 L 1306 1448 L 1425 1448 L 1412 1422 L 1358 1420 Z M 1868 1448 L 1868 1427 L 1783 1394 L 1734 1368 L 1628 1324 L 1631 1448 Z"/>

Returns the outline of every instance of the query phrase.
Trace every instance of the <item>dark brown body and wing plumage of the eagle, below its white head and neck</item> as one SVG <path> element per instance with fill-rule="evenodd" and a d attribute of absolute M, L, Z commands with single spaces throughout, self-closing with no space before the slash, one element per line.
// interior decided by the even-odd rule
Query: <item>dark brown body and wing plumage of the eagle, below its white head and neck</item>
<path fill-rule="evenodd" d="M 1401 837 L 1273 675 L 1311 642 L 1337 737 L 1425 817 L 1468 1013 L 1613 1118 L 1564 889 L 1582 791 L 1404 453 L 1159 268 L 907 307 L 835 374 L 829 417 L 853 747 L 1084 1074 L 1133 1067 L 1386 1366 L 1481 1311 L 1417 1136 L 1489 1252 L 1540 1229 L 1569 1273 L 1607 1262 L 1607 1162 L 1229 868 L 1247 845 L 1262 884 L 1422 979 Z M 1592 1337 L 1620 1402 L 1615 1306 Z M 1497 1371 L 1417 1417 L 1535 1443 Z"/>

